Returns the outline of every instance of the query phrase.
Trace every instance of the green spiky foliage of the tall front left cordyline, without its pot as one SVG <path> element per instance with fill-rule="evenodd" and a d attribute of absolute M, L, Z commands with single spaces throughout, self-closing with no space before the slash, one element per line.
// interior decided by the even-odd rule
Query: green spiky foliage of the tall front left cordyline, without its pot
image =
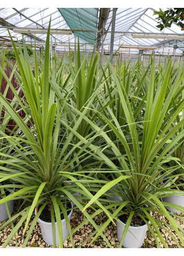
<path fill-rule="evenodd" d="M 26 97 L 26 106 L 22 104 L 18 93 L 15 91 L 15 88 L 11 84 L 5 72 L 1 69 L 1 74 L 5 77 L 9 87 L 14 92 L 16 100 L 22 107 L 22 110 L 26 113 L 27 119 L 29 119 L 32 124 L 31 127 L 28 127 L 27 122 L 18 115 L 13 106 L 11 106 L 11 104 L 6 100 L 5 96 L 0 94 L 1 104 L 6 109 L 8 115 L 11 116 L 11 118 L 14 118 L 17 126 L 22 131 L 21 136 L 18 135 L 18 133 L 16 133 L 15 136 L 6 136 L 5 133 L 2 132 L 2 135 L 4 136 L 3 138 L 7 139 L 11 145 L 15 145 L 14 148 L 19 154 L 19 157 L 17 157 L 17 155 L 6 155 L 9 160 L 8 171 L 3 170 L 3 172 L 0 172 L 0 183 L 11 179 L 11 182 L 16 184 L 16 192 L 1 199 L 0 204 L 8 202 L 10 199 L 23 199 L 22 208 L 18 210 L 18 213 L 15 216 L 10 217 L 0 229 L 2 230 L 6 225 L 12 223 L 12 221 L 17 217 L 20 217 L 20 220 L 15 227 L 13 226 L 12 232 L 3 244 L 3 248 L 7 246 L 8 242 L 13 238 L 24 221 L 26 221 L 23 229 L 23 233 L 25 233 L 34 208 L 37 205 L 40 205 L 40 208 L 29 227 L 27 237 L 22 246 L 23 248 L 26 247 L 36 221 L 46 205 L 49 205 L 51 209 L 54 247 L 56 247 L 55 217 L 59 236 L 59 247 L 63 248 L 64 238 L 62 235 L 61 211 L 63 212 L 66 220 L 69 230 L 68 237 L 71 239 L 72 247 L 74 247 L 72 233 L 83 226 L 87 221 L 90 221 L 94 226 L 96 229 L 95 232 L 100 230 L 100 227 L 98 227 L 92 219 L 94 216 L 100 214 L 104 210 L 109 218 L 112 219 L 108 209 L 104 208 L 103 205 L 96 200 L 94 203 L 100 207 L 99 210 L 97 210 L 93 216 L 90 216 L 86 211 L 84 211 L 83 214 L 86 219 L 75 230 L 71 231 L 65 202 L 70 199 L 76 204 L 76 208 L 78 207 L 82 210 L 85 205 L 85 201 L 89 201 L 89 199 L 93 198 L 93 195 L 89 192 L 89 178 L 87 179 L 85 175 L 78 174 L 76 170 L 78 170 L 79 166 L 80 170 L 82 170 L 82 166 L 80 165 L 80 158 L 82 155 L 93 155 L 94 152 L 92 152 L 91 149 L 93 150 L 95 147 L 91 146 L 90 141 L 88 141 L 88 144 L 84 144 L 83 141 L 87 139 L 78 133 L 78 127 L 88 109 L 79 113 L 79 118 L 75 126 L 71 128 L 70 123 L 68 124 L 68 117 L 65 114 L 65 104 L 60 104 L 59 99 L 55 94 L 55 90 L 57 91 L 55 81 L 57 79 L 55 77 L 56 73 L 53 71 L 51 72 L 50 70 L 49 38 L 50 25 L 48 26 L 43 71 L 41 73 L 38 69 L 36 51 L 34 52 L 35 77 L 31 71 L 30 60 L 24 41 L 23 55 L 19 43 L 17 50 L 14 41 L 11 40 L 16 54 L 21 78 L 18 74 L 17 76 L 18 79 L 22 81 L 20 86 L 24 96 Z M 80 141 L 73 144 L 70 143 L 70 140 L 68 139 L 65 141 L 64 147 L 60 148 L 60 130 L 62 126 L 70 129 L 70 140 L 72 136 L 75 135 L 80 139 Z M 62 133 L 62 136 L 65 137 L 65 133 Z M 23 147 L 19 141 L 26 143 L 29 146 L 29 150 L 27 147 Z M 77 148 L 79 149 L 78 152 L 73 153 Z M 88 148 L 90 150 L 88 150 Z M 102 154 L 99 150 L 97 150 L 97 153 L 99 153 L 99 155 Z M 0 154 L 3 155 L 1 152 Z M 88 165 L 86 168 L 88 168 Z M 76 175 L 81 175 L 82 179 L 76 180 Z M 114 184 L 119 180 L 127 178 L 128 176 L 126 175 L 121 176 L 117 181 L 114 181 Z M 65 186 L 66 179 L 74 181 L 73 184 L 71 186 Z M 98 183 L 99 181 L 93 179 L 92 182 Z M 85 184 L 88 184 L 88 189 L 85 188 Z M 2 186 L 0 187 L 2 188 Z M 77 199 L 72 195 L 73 191 L 79 192 L 82 195 L 82 202 L 77 201 Z M 64 196 L 62 197 L 62 201 L 60 198 L 61 196 Z M 25 202 L 30 202 L 31 205 L 26 207 L 24 206 Z M 24 212 L 23 216 L 21 216 L 22 212 Z M 106 239 L 103 232 L 101 232 L 101 235 L 107 242 L 108 246 L 111 247 L 111 244 Z"/>

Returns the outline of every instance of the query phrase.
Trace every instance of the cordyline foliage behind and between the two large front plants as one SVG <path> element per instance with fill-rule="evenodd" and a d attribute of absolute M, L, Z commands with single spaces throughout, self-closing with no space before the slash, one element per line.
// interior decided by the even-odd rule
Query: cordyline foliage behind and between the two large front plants
<path fill-rule="evenodd" d="M 67 68 L 63 68 L 63 64 L 61 64 L 57 72 L 56 81 L 51 75 L 51 86 L 59 100 L 60 106 L 64 109 L 64 115 L 60 117 L 60 121 L 63 125 L 62 129 L 63 127 L 66 129 L 62 142 L 64 142 L 64 138 L 66 138 L 67 143 L 80 143 L 80 135 L 83 138 L 86 137 L 88 139 L 88 144 L 92 142 L 95 144 L 99 138 L 95 136 L 96 132 L 91 129 L 91 124 L 85 121 L 85 117 L 88 117 L 92 123 L 101 122 L 90 107 L 95 106 L 95 109 L 99 110 L 99 112 L 103 112 L 105 107 L 114 101 L 114 99 L 111 101 L 108 98 L 105 106 L 103 105 L 103 102 L 101 102 L 103 101 L 103 98 L 108 97 L 108 95 L 103 91 L 104 75 L 102 72 L 99 72 L 99 57 L 94 54 L 93 51 L 89 62 L 87 61 L 88 55 L 85 57 L 83 55 L 81 57 L 78 41 L 77 47 L 75 46 L 75 61 L 72 64 L 71 60 L 69 60 L 71 73 L 68 74 L 63 86 L 60 81 L 63 81 L 64 75 L 61 73 L 67 72 Z M 104 72 L 107 70 L 108 63 L 111 59 L 106 63 Z M 62 77 L 61 80 L 60 77 Z M 69 120 L 68 124 L 65 121 L 66 118 Z M 71 129 L 76 130 L 77 135 L 73 133 Z M 64 143 L 64 149 L 67 149 L 67 143 Z M 88 144 L 86 144 L 86 147 L 88 147 Z M 73 151 L 73 154 L 76 154 L 76 152 L 79 152 L 79 148 L 76 148 L 76 150 Z M 96 159 L 96 156 L 92 153 L 89 155 L 87 152 L 80 158 L 82 163 L 85 162 L 85 165 L 87 162 L 94 162 L 94 159 Z"/>

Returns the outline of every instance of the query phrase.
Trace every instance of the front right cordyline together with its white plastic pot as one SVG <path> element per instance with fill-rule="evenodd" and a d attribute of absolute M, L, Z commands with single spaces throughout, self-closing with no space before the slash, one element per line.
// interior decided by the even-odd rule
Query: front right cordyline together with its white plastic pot
<path fill-rule="evenodd" d="M 114 86 L 116 89 L 114 95 L 124 111 L 122 113 L 124 116 L 121 117 L 125 117 L 126 124 L 125 126 L 119 124 L 116 118 L 116 111 L 119 109 L 114 107 L 109 108 L 105 114 L 96 112 L 99 118 L 103 118 L 103 125 L 108 125 L 107 131 L 104 132 L 101 127 L 97 127 L 95 124 L 93 125 L 93 129 L 96 129 L 96 132 L 99 132 L 101 129 L 102 132 L 100 135 L 104 138 L 105 142 L 111 145 L 112 160 L 111 158 L 107 160 L 105 157 L 103 160 L 107 168 L 117 170 L 116 172 L 112 172 L 112 176 L 116 178 L 127 174 L 130 176 L 130 179 L 122 180 L 120 185 L 112 186 L 113 189 L 112 191 L 110 190 L 113 192 L 115 199 L 115 201 L 111 201 L 112 207 L 116 205 L 117 209 L 119 207 L 122 208 L 122 213 L 119 212 L 114 216 L 117 220 L 119 247 L 121 245 L 131 248 L 141 247 L 147 226 L 155 238 L 157 246 L 160 247 L 160 243 L 157 241 L 150 224 L 155 228 L 157 236 L 162 241 L 164 247 L 167 247 L 162 233 L 158 229 L 158 227 L 164 229 L 165 227 L 162 222 L 152 217 L 150 214 L 152 211 L 162 213 L 168 218 L 183 245 L 183 230 L 180 232 L 179 224 L 176 225 L 174 218 L 165 209 L 165 206 L 171 205 L 177 208 L 177 203 L 168 204 L 165 202 L 164 198 L 168 192 L 168 188 L 167 186 L 160 186 L 162 184 L 160 175 L 163 171 L 161 166 L 165 161 L 169 161 L 170 151 L 174 145 L 177 145 L 183 140 L 183 118 L 179 119 L 175 126 L 173 125 L 184 106 L 184 102 L 182 100 L 179 101 L 179 92 L 181 93 L 184 89 L 182 84 L 183 71 L 182 69 L 178 69 L 177 73 L 172 76 L 173 67 L 171 61 L 169 61 L 165 63 L 160 74 L 155 77 L 153 60 L 151 67 L 148 68 L 150 69 L 149 79 L 144 80 L 144 95 L 146 97 L 142 96 L 138 98 L 131 96 L 131 86 L 128 87 L 129 91 L 126 91 L 126 88 L 122 85 L 120 76 L 116 72 L 113 72 L 114 70 L 111 66 L 109 68 L 115 81 Z M 148 70 L 145 73 L 148 74 Z M 140 90 L 140 83 L 142 83 L 141 79 L 136 86 L 137 90 Z M 145 99 L 147 100 L 145 101 Z M 173 101 L 176 101 L 175 111 L 172 111 Z M 138 106 L 140 108 L 139 111 L 142 112 L 142 126 L 139 125 L 141 123 L 139 121 L 140 119 L 137 119 L 138 116 L 134 115 L 132 111 L 132 109 L 136 109 L 135 106 Z M 106 134 L 108 131 L 109 136 Z M 111 140 L 111 138 L 116 139 Z M 104 147 L 102 151 L 105 154 L 107 150 Z M 115 158 L 117 159 L 116 162 L 114 161 Z M 171 168 L 169 170 L 172 174 L 173 170 Z M 176 176 L 173 175 L 173 179 Z M 106 192 L 105 186 L 101 188 L 103 192 Z M 108 191 L 110 188 L 108 188 Z M 182 193 L 181 191 L 179 192 L 180 194 Z M 109 196 L 109 193 L 106 195 Z M 118 199 L 115 198 L 116 195 L 118 195 Z M 122 202 L 119 202 L 120 197 L 122 198 Z M 90 206 L 90 204 L 89 202 L 84 209 Z M 184 212 L 183 207 L 180 208 Z M 166 223 L 164 224 L 166 225 Z M 138 227 L 136 227 L 137 225 Z M 103 228 L 105 227 L 106 225 Z M 170 231 L 167 232 L 171 235 Z M 97 235 L 98 233 L 92 242 L 96 239 Z M 179 246 L 179 243 L 177 244 Z"/>

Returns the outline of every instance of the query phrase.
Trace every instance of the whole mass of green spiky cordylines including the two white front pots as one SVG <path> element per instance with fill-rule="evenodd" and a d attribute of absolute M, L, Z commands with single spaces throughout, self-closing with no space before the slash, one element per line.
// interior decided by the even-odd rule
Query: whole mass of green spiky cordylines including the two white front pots
<path fill-rule="evenodd" d="M 19 127 L 14 136 L 6 135 L 5 130 L 1 133 L 16 154 L 5 154 L 8 170 L 1 171 L 0 182 L 6 182 L 7 187 L 15 183 L 16 191 L 2 198 L 0 206 L 20 197 L 31 202 L 29 206 L 23 204 L 19 213 L 0 228 L 20 217 L 3 247 L 22 225 L 23 234 L 26 232 L 34 213 L 23 248 L 36 221 L 47 244 L 63 248 L 64 240 L 70 238 L 74 247 L 70 217 L 75 208 L 86 217 L 84 224 L 90 221 L 95 228 L 90 243 L 102 236 L 111 247 L 103 230 L 113 221 L 119 248 L 141 247 L 147 228 L 157 247 L 158 237 L 167 248 L 160 231 L 166 223 L 153 218 L 152 212 L 156 212 L 168 218 L 179 237 L 178 247 L 184 246 L 184 230 L 165 207 L 184 210 L 164 199 L 171 188 L 176 191 L 179 187 L 175 184 L 178 173 L 174 173 L 173 166 L 163 168 L 174 160 L 173 147 L 183 140 L 184 119 L 178 119 L 184 107 L 182 68 L 174 71 L 168 61 L 155 73 L 154 58 L 147 69 L 139 61 L 133 66 L 118 63 L 113 68 L 110 59 L 97 73 L 99 57 L 93 56 L 89 64 L 85 58 L 81 61 L 78 43 L 74 62 L 69 61 L 71 75 L 64 79 L 62 62 L 57 72 L 55 63 L 50 68 L 49 38 L 50 26 L 44 58 L 38 60 L 34 52 L 34 74 L 26 44 L 23 41 L 23 55 L 19 43 L 16 48 L 12 40 L 20 72 L 16 75 L 21 76 L 26 101 L 21 100 L 1 69 L 26 117 L 21 118 L 13 104 L 0 94 L 8 118 Z M 0 151 L 0 155 L 3 158 L 4 152 Z M 164 170 L 171 177 L 171 183 L 165 185 Z M 178 193 L 182 195 L 181 190 Z M 102 226 L 95 224 L 88 207 L 105 212 L 108 218 Z"/>

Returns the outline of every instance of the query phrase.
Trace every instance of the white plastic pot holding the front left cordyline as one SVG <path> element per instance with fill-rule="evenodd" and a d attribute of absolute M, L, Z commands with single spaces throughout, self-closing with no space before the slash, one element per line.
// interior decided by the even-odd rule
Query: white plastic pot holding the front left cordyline
<path fill-rule="evenodd" d="M 73 203 L 71 203 L 71 207 L 73 207 Z M 70 217 L 72 214 L 73 210 L 70 211 L 68 215 L 68 219 L 70 221 Z M 36 215 L 36 209 L 35 209 L 35 215 Z M 40 224 L 40 229 L 42 232 L 42 237 L 43 240 L 49 244 L 50 246 L 53 246 L 53 232 L 52 232 L 52 222 L 46 222 L 38 218 L 39 224 Z M 56 227 L 56 246 L 59 244 L 59 236 L 58 236 L 58 231 L 57 231 L 57 223 L 55 222 L 55 227 Z M 66 225 L 65 219 L 62 219 L 62 231 L 63 231 L 63 240 L 69 235 L 68 227 Z"/>

